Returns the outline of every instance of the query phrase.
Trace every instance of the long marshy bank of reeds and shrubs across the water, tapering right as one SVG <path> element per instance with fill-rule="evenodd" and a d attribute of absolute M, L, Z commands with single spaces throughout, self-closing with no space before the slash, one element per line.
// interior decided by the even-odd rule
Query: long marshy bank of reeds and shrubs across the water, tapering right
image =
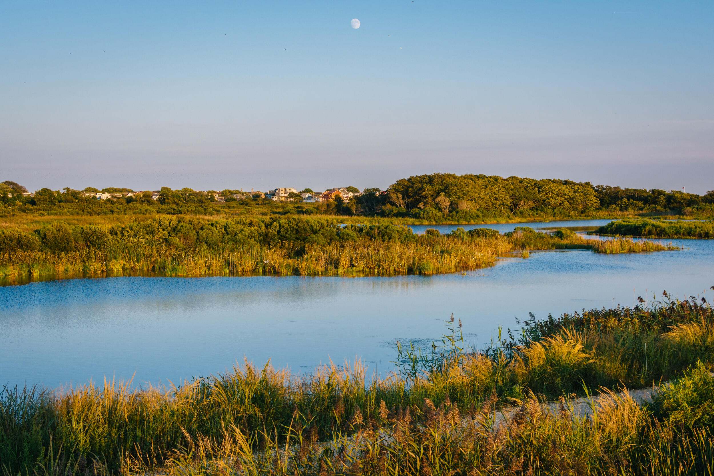
<path fill-rule="evenodd" d="M 668 249 L 621 240 L 617 252 Z M 0 229 L 4 283 L 109 275 L 398 275 L 453 273 L 491 266 L 513 250 L 610 245 L 567 230 L 518 227 L 423 235 L 393 225 L 346 225 L 317 218 L 149 218 Z"/>

